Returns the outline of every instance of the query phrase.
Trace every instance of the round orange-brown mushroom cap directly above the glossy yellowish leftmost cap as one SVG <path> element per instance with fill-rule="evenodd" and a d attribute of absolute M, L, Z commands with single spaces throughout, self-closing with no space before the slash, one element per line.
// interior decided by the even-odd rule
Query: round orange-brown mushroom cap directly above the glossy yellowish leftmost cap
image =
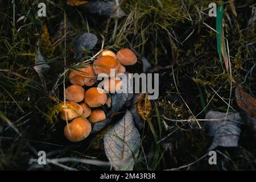
<path fill-rule="evenodd" d="M 66 90 L 66 98 L 69 101 L 81 102 L 84 100 L 84 88 L 79 85 L 71 85 Z"/>

